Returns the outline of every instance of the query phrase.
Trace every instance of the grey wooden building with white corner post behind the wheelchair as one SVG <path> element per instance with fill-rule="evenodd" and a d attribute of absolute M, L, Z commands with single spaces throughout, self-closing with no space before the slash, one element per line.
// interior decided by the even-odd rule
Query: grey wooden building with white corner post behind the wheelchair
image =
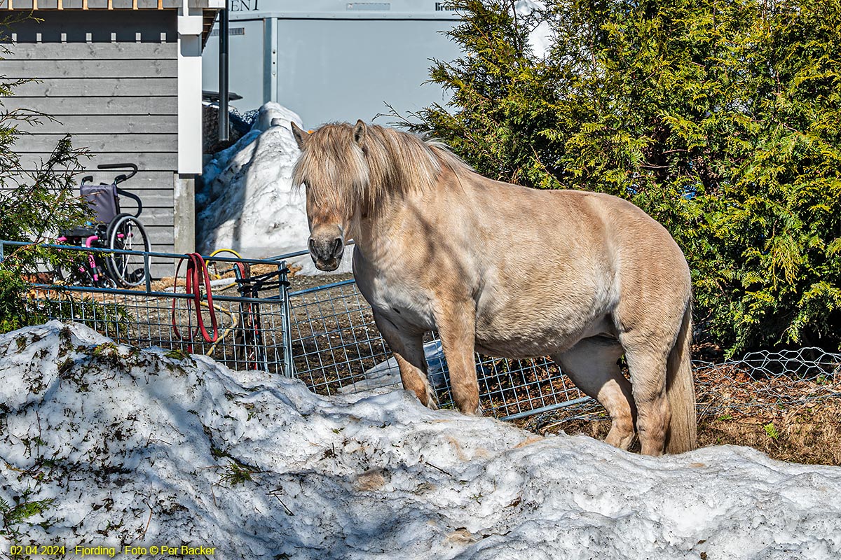
<path fill-rule="evenodd" d="M 98 164 L 129 161 L 124 188 L 143 201 L 152 249 L 194 246 L 194 182 L 202 171 L 201 53 L 224 0 L 0 0 L 3 13 L 34 9 L 14 25 L 0 74 L 35 78 L 3 99 L 58 123 L 30 128 L 15 149 L 34 169 L 72 134 L 87 147 L 85 175 L 110 182 Z M 126 210 L 132 211 L 126 199 Z M 172 274 L 156 266 L 153 275 Z"/>

